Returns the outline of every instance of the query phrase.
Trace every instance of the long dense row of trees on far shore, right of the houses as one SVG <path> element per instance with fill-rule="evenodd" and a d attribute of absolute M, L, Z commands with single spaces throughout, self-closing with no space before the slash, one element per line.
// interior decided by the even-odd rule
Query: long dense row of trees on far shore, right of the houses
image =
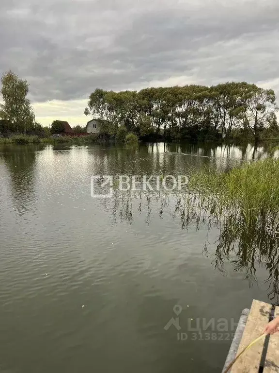
<path fill-rule="evenodd" d="M 218 137 L 278 137 L 276 96 L 246 82 L 214 86 L 185 85 L 137 91 L 91 93 L 85 115 L 102 122 L 104 131 L 140 137 L 204 140 Z"/>

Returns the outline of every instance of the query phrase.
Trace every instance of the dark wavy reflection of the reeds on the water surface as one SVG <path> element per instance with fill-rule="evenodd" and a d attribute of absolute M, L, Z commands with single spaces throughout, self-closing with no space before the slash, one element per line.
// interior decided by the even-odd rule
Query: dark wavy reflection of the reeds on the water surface
<path fill-rule="evenodd" d="M 274 303 L 279 302 L 279 222 L 275 218 L 266 217 L 247 226 L 237 215 L 227 214 L 220 218 L 214 208 L 206 205 L 197 194 L 174 196 L 166 193 L 114 191 L 114 223 L 127 221 L 132 224 L 133 211 L 136 209 L 140 213 L 145 211 L 145 222 L 149 224 L 154 208 L 160 219 L 165 213 L 170 214 L 174 220 L 179 219 L 182 229 L 195 227 L 199 230 L 202 226 L 207 227 L 208 232 L 211 229 L 218 230 L 212 260 L 215 269 L 226 273 L 225 264 L 230 263 L 233 271 L 245 273 L 245 279 L 252 286 L 257 284 L 257 269 L 264 268 L 268 273 L 264 281 L 268 297 Z M 206 241 L 201 247 L 202 254 L 206 256 L 209 256 L 208 243 L 212 242 Z"/>

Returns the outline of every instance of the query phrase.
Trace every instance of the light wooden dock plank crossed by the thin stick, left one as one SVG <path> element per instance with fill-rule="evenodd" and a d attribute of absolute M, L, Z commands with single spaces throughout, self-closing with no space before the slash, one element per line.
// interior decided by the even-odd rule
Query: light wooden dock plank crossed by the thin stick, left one
<path fill-rule="evenodd" d="M 271 305 L 253 300 L 246 327 L 237 351 L 237 355 L 264 330 L 269 319 Z M 263 352 L 264 338 L 246 351 L 233 365 L 231 373 L 258 373 Z"/>

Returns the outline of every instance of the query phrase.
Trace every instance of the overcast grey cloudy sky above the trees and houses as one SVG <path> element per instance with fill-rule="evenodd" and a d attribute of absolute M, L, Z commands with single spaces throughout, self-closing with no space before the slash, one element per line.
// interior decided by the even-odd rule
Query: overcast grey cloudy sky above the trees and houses
<path fill-rule="evenodd" d="M 248 81 L 279 95 L 278 0 L 0 0 L 0 73 L 36 119 L 86 124 L 89 94 Z"/>

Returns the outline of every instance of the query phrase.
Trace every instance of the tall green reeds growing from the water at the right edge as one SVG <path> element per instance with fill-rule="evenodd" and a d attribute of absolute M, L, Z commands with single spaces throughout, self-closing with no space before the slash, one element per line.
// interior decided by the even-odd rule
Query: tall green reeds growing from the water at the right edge
<path fill-rule="evenodd" d="M 251 227 L 260 220 L 274 225 L 279 216 L 279 161 L 265 159 L 229 172 L 191 171 L 189 189 L 220 220 L 234 217 Z"/>

